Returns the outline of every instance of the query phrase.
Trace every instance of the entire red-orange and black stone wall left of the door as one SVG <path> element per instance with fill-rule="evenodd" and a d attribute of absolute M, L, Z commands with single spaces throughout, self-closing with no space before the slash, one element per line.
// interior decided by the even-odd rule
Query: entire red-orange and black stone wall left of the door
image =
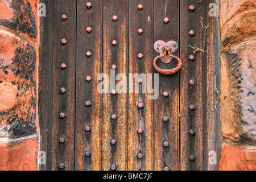
<path fill-rule="evenodd" d="M 37 167 L 37 5 L 0 1 L 0 171 Z"/>

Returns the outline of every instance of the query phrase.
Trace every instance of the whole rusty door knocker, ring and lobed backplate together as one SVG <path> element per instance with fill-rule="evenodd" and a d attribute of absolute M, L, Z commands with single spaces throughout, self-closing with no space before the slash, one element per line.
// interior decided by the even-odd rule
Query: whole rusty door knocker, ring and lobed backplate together
<path fill-rule="evenodd" d="M 175 41 L 163 42 L 162 40 L 158 40 L 154 44 L 155 51 L 160 53 L 160 56 L 155 57 L 153 65 L 156 71 L 162 73 L 163 75 L 172 75 L 179 71 L 181 68 L 181 60 L 179 57 L 172 55 L 172 53 L 176 52 L 178 49 L 178 44 Z M 162 69 L 156 65 L 156 61 L 161 59 L 161 61 L 165 64 L 171 63 L 172 59 L 176 59 L 178 61 L 177 67 L 173 69 Z"/>

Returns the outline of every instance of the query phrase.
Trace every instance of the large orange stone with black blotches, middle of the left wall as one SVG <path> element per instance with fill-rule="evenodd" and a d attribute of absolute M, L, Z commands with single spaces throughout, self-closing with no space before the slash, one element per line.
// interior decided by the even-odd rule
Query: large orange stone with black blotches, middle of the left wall
<path fill-rule="evenodd" d="M 36 52 L 7 32 L 0 32 L 0 137 L 36 133 Z"/>

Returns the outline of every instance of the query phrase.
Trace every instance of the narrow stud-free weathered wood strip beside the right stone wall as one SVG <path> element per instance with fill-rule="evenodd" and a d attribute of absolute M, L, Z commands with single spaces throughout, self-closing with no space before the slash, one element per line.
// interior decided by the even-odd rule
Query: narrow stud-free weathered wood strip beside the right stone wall
<path fill-rule="evenodd" d="M 209 8 L 210 3 L 216 3 L 216 0 L 208 0 L 204 6 L 205 9 Z M 218 101 L 218 93 L 215 90 L 215 86 L 220 94 L 220 29 L 218 16 L 209 16 L 207 15 L 207 22 L 209 25 L 207 29 L 207 39 L 205 40 L 206 49 L 207 49 L 207 61 L 204 63 L 204 77 L 207 79 L 207 82 L 204 82 L 204 85 L 207 85 L 207 88 L 204 88 L 204 102 L 207 103 L 207 118 L 204 122 L 207 122 L 207 130 L 204 130 L 204 170 L 216 171 L 219 169 L 218 163 L 220 162 L 221 149 L 222 149 L 222 135 L 221 135 L 221 123 L 220 115 L 220 102 Z M 205 80 L 204 79 L 204 80 Z M 206 86 L 205 86 L 206 87 Z M 215 108 L 218 109 L 218 111 Z M 215 158 L 216 157 L 216 158 Z"/>

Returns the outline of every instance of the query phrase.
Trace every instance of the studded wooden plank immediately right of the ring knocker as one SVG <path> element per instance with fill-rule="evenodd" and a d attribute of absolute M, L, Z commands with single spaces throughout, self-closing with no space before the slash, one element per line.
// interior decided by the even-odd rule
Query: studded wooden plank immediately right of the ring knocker
<path fill-rule="evenodd" d="M 184 61 L 180 72 L 180 169 L 201 170 L 203 169 L 203 127 L 204 113 L 207 106 L 203 105 L 203 68 L 206 55 L 198 51 L 193 61 L 189 60 L 193 47 L 204 47 L 204 28 L 201 26 L 201 17 L 206 18 L 205 1 L 198 3 L 192 0 L 180 1 L 180 57 Z M 189 6 L 195 6 L 193 12 Z M 189 31 L 194 30 L 195 35 L 190 36 Z M 195 86 L 189 84 L 195 80 Z M 206 94 L 206 93 L 205 93 Z M 189 109 L 195 105 L 195 110 Z M 195 130 L 195 135 L 190 135 L 189 130 Z M 195 161 L 189 156 L 194 155 Z"/>

